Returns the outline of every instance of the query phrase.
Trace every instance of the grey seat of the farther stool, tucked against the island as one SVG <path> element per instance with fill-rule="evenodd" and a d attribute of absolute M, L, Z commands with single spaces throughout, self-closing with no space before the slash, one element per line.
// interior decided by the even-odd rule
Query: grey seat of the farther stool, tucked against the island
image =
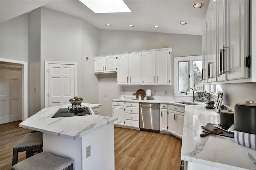
<path fill-rule="evenodd" d="M 13 148 L 26 148 L 31 146 L 38 146 L 43 144 L 43 134 L 42 132 L 37 133 L 29 133 L 25 136 L 25 138 L 13 146 Z"/>

